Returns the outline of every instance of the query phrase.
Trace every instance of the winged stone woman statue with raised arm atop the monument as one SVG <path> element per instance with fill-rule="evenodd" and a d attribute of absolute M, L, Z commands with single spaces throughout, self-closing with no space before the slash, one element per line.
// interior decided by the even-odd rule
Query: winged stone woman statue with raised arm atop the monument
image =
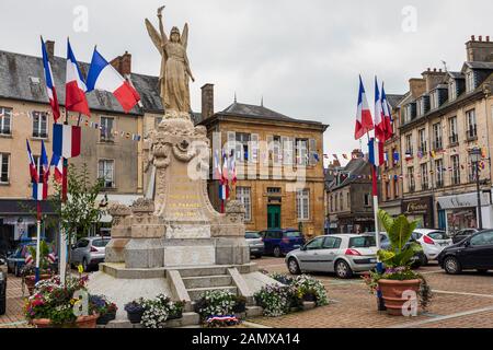
<path fill-rule="evenodd" d="M 162 23 L 163 9 L 164 7 L 158 9 L 159 32 L 146 19 L 149 36 L 162 56 L 159 77 L 161 100 L 167 114 L 171 112 L 180 115 L 188 114 L 191 110 L 188 79 L 195 81 L 186 56 L 188 24 L 185 23 L 182 35 L 180 30 L 173 26 L 168 38 Z"/>

